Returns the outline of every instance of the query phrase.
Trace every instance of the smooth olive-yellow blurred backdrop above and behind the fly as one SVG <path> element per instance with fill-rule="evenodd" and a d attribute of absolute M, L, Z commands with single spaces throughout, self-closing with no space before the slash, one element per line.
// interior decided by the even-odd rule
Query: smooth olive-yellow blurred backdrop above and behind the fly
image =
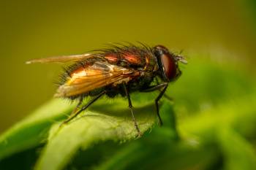
<path fill-rule="evenodd" d="M 255 74 L 255 2 L 1 1 L 0 132 L 52 98 L 58 64 L 31 58 L 85 53 L 108 42 L 162 44 L 189 60 L 230 61 Z"/>

